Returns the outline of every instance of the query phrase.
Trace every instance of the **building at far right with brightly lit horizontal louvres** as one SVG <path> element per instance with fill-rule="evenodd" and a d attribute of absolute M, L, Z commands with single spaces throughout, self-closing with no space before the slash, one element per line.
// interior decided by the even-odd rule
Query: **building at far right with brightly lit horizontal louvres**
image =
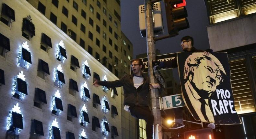
<path fill-rule="evenodd" d="M 235 109 L 243 124 L 220 126 L 218 138 L 255 138 L 256 1 L 205 0 L 210 48 L 228 53 Z M 234 132 L 229 132 L 230 130 Z M 241 132 L 243 134 L 241 134 Z"/>

